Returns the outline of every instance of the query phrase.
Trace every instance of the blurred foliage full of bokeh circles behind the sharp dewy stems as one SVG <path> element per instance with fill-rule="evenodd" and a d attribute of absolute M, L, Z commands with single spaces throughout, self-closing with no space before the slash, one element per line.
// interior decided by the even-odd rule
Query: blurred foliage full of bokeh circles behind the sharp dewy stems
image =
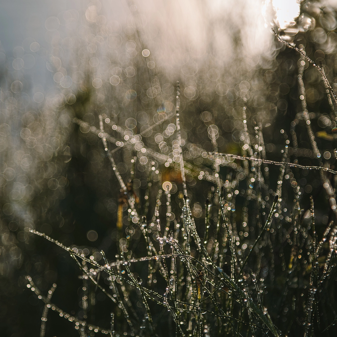
<path fill-rule="evenodd" d="M 187 190 L 198 228 L 203 228 L 205 221 L 206 199 L 214 197 L 215 184 L 212 179 L 207 180 L 215 172 L 214 156 L 208 153 L 214 151 L 212 134 L 218 152 L 249 156 L 243 119 L 247 120 L 251 149 L 256 154 L 282 161 L 282 152 L 289 140 L 290 161 L 302 165 L 321 162 L 335 168 L 336 105 L 329 104 L 319 71 L 274 38 L 269 21 L 273 21 L 272 26 L 283 39 L 304 49 L 307 56 L 323 66 L 336 90 L 336 4 L 302 1 L 299 15 L 293 22 L 283 24 L 280 17 L 270 16 L 272 3 L 265 3 L 268 37 L 262 40 L 256 40 L 256 36 L 250 38 L 249 30 L 241 29 L 250 27 L 251 18 L 240 16 L 237 10 L 229 12 L 233 14 L 231 22 L 222 30 L 217 26 L 219 18 L 216 17 L 213 24 L 205 19 L 202 25 L 208 28 L 205 32 L 209 39 L 207 53 L 193 49 L 192 44 L 185 45 L 183 38 L 167 40 L 167 44 L 175 47 L 168 53 L 168 48 L 164 49 L 163 32 L 170 27 L 159 24 L 165 20 L 156 17 L 156 21 L 151 21 L 153 17 L 147 18 L 135 4 L 125 8 L 127 15 L 121 22 L 109 20 L 99 1 L 90 2 L 82 9 L 62 11 L 45 21 L 43 43 L 28 37 L 11 53 L 0 50 L 0 326 L 5 336 L 30 336 L 40 329 L 42 303 L 26 287 L 28 274 L 44 293 L 57 283 L 53 301 L 81 319 L 86 315 L 80 300 L 83 283 L 74 262 L 59 247 L 33 236 L 29 228 L 81 250 L 101 263 L 101 250 L 109 260 L 115 260 L 121 251 L 127 258 L 146 255 L 140 229 L 131 221 L 127 210 L 123 213 L 122 232 L 116 228 L 120 186 L 98 136 L 99 115 L 105 132 L 116 140 L 110 150 L 118 171 L 125 182 L 133 181 L 133 190 L 140 198 L 137 211 L 140 215 L 147 214 L 148 220 L 155 211 L 161 184 L 170 181 L 173 186 L 170 221 L 181 221 L 182 181 L 179 167 L 175 165 L 179 163 L 175 124 L 177 80 L 181 87 L 180 123 Z M 165 12 L 161 15 L 165 16 Z M 228 26 L 231 29 L 218 38 Z M 202 39 L 196 37 L 196 40 L 198 38 Z M 253 48 L 247 47 L 247 40 L 250 46 L 257 46 L 255 52 L 247 53 Z M 228 49 L 226 57 L 219 56 L 222 49 L 218 44 Z M 29 71 L 37 71 L 35 67 L 41 60 L 48 69 L 45 76 L 50 82 L 44 86 L 38 84 L 39 81 L 34 83 L 29 75 Z M 310 125 L 320 158 L 312 148 L 299 98 L 301 62 L 304 62 Z M 243 106 L 246 106 L 245 117 Z M 257 142 L 261 137 L 255 137 L 257 127 L 258 132 L 263 133 L 262 144 Z M 151 151 L 157 155 L 151 156 Z M 231 198 L 237 195 L 232 203 L 231 219 L 232 224 L 236 224 L 237 237 L 247 247 L 256 239 L 258 225 L 261 227 L 258 220 L 261 212 L 256 208 L 256 203 L 261 206 L 261 201 L 254 197 L 255 192 L 249 196 L 247 190 L 256 191 L 256 195 L 262 191 L 263 208 L 269 210 L 279 185 L 279 166 L 262 165 L 265 186 L 256 185 L 255 189 L 255 185 L 254 188 L 247 186 L 247 178 L 254 177 L 254 172 L 247 171 L 249 167 L 245 167 L 243 161 L 222 156 L 219 165 L 222 185 L 227 187 L 236 179 L 228 207 L 231 207 Z M 328 178 L 333 184 L 334 177 Z M 266 305 L 279 329 L 286 333 L 291 322 L 289 329 L 295 335 L 303 333 L 304 309 L 298 311 L 298 321 L 293 322 L 288 310 L 291 299 L 284 293 L 281 296 L 282 291 L 288 291 L 283 288 L 282 271 L 287 273 L 288 261 L 295 249 L 289 241 L 295 213 L 292 210 L 294 195 L 304 223 L 310 220 L 309 197 L 313 196 L 319 239 L 335 215 L 317 170 L 295 168 L 284 179 L 282 203 L 275 219 L 275 226 L 282 223 L 284 228 L 280 232 L 284 237 L 282 249 L 278 248 L 281 250 L 276 251 L 273 262 L 270 257 L 262 258 L 256 278 L 262 275 L 267 280 L 268 269 L 276 270 L 271 273 L 275 283 L 270 279 L 270 283 L 266 281 L 271 293 L 266 295 Z M 161 207 L 160 212 L 164 222 L 166 208 Z M 216 223 L 215 204 L 211 213 Z M 211 246 L 215 239 L 210 234 L 212 239 Z M 244 248 L 239 248 L 244 254 Z M 218 253 L 226 261 L 227 246 L 219 249 Z M 134 275 L 148 279 L 147 265 L 134 264 L 133 268 Z M 298 294 L 305 293 L 303 286 L 308 282 L 306 268 L 309 267 L 304 263 L 301 268 L 296 276 L 298 282 L 292 281 L 296 286 L 290 284 L 290 289 L 294 288 Z M 155 275 L 151 276 L 154 280 Z M 335 280 L 336 276 L 331 277 Z M 109 284 L 106 279 L 104 282 Z M 155 283 L 150 281 L 148 285 L 165 288 L 161 281 Z M 297 296 L 294 289 L 289 291 Z M 164 290 L 156 291 L 161 294 Z M 324 328 L 318 327 L 316 335 L 336 317 L 333 284 L 329 284 L 322 297 L 319 312 L 326 321 L 321 317 Z M 327 298 L 329 304 L 324 302 Z M 111 303 L 103 294 L 97 294 L 96 302 L 89 310 L 91 323 L 108 329 Z M 275 310 L 274 303 L 278 306 Z M 46 335 L 72 336 L 73 326 L 53 314 L 48 316 Z M 120 310 L 117 309 L 116 315 L 122 315 Z M 167 327 L 166 311 L 165 314 L 158 311 L 157 315 L 157 333 L 173 335 L 174 329 Z M 123 318 L 119 318 L 117 327 L 120 333 L 127 331 Z M 335 328 L 328 331 L 333 334 Z M 214 330 L 212 333 L 216 335 Z"/>

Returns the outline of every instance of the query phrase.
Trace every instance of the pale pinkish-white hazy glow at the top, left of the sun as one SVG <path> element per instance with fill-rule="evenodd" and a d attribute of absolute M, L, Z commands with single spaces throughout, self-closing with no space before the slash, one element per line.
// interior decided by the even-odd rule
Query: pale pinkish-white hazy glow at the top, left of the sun
<path fill-rule="evenodd" d="M 270 58 L 273 36 L 264 26 L 263 1 L 136 1 L 137 11 L 147 20 L 148 47 L 175 68 L 187 53 L 196 62 L 228 65 L 240 58 Z M 114 15 L 114 4 L 102 3 L 105 15 Z M 126 19 L 128 20 L 128 19 Z M 191 60 L 189 60 L 191 62 Z M 183 61 L 182 61 L 183 62 Z"/>

